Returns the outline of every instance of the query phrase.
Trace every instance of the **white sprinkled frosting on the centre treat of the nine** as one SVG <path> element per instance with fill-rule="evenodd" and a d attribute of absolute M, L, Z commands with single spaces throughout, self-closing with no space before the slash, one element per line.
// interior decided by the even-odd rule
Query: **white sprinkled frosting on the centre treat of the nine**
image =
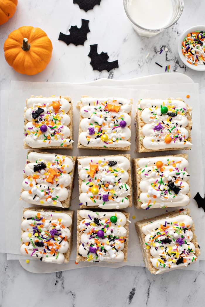
<path fill-rule="evenodd" d="M 124 156 L 97 156 L 78 159 L 80 202 L 85 206 L 121 209 L 129 206 L 130 161 Z M 110 165 L 109 165 L 110 164 Z M 92 171 L 92 169 L 94 171 Z M 106 199 L 106 200 L 105 200 Z"/>

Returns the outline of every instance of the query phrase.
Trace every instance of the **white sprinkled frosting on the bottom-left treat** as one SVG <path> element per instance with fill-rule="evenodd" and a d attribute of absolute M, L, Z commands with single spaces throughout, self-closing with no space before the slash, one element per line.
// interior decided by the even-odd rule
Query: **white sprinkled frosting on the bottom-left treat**
<path fill-rule="evenodd" d="M 26 210 L 22 221 L 21 254 L 61 264 L 69 249 L 72 219 L 62 212 Z"/>

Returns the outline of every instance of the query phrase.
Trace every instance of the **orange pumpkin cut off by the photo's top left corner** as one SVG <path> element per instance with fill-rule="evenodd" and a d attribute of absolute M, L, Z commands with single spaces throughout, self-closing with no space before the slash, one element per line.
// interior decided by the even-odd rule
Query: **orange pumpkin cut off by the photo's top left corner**
<path fill-rule="evenodd" d="M 18 0 L 0 0 L 0 25 L 14 15 L 17 4 Z"/>

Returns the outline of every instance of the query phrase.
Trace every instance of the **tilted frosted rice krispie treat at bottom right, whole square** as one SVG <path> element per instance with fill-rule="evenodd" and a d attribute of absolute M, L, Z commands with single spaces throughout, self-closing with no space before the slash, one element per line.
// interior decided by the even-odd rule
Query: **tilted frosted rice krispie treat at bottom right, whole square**
<path fill-rule="evenodd" d="M 135 225 L 145 266 L 152 274 L 189 266 L 200 255 L 188 209 L 141 220 Z"/>

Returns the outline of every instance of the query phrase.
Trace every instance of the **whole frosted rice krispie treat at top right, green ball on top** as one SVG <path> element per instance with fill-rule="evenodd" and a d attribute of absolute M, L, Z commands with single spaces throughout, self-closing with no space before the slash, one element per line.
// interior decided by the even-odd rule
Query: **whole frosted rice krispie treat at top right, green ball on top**
<path fill-rule="evenodd" d="M 136 112 L 137 152 L 191 149 L 192 108 L 181 98 L 140 99 Z"/>

